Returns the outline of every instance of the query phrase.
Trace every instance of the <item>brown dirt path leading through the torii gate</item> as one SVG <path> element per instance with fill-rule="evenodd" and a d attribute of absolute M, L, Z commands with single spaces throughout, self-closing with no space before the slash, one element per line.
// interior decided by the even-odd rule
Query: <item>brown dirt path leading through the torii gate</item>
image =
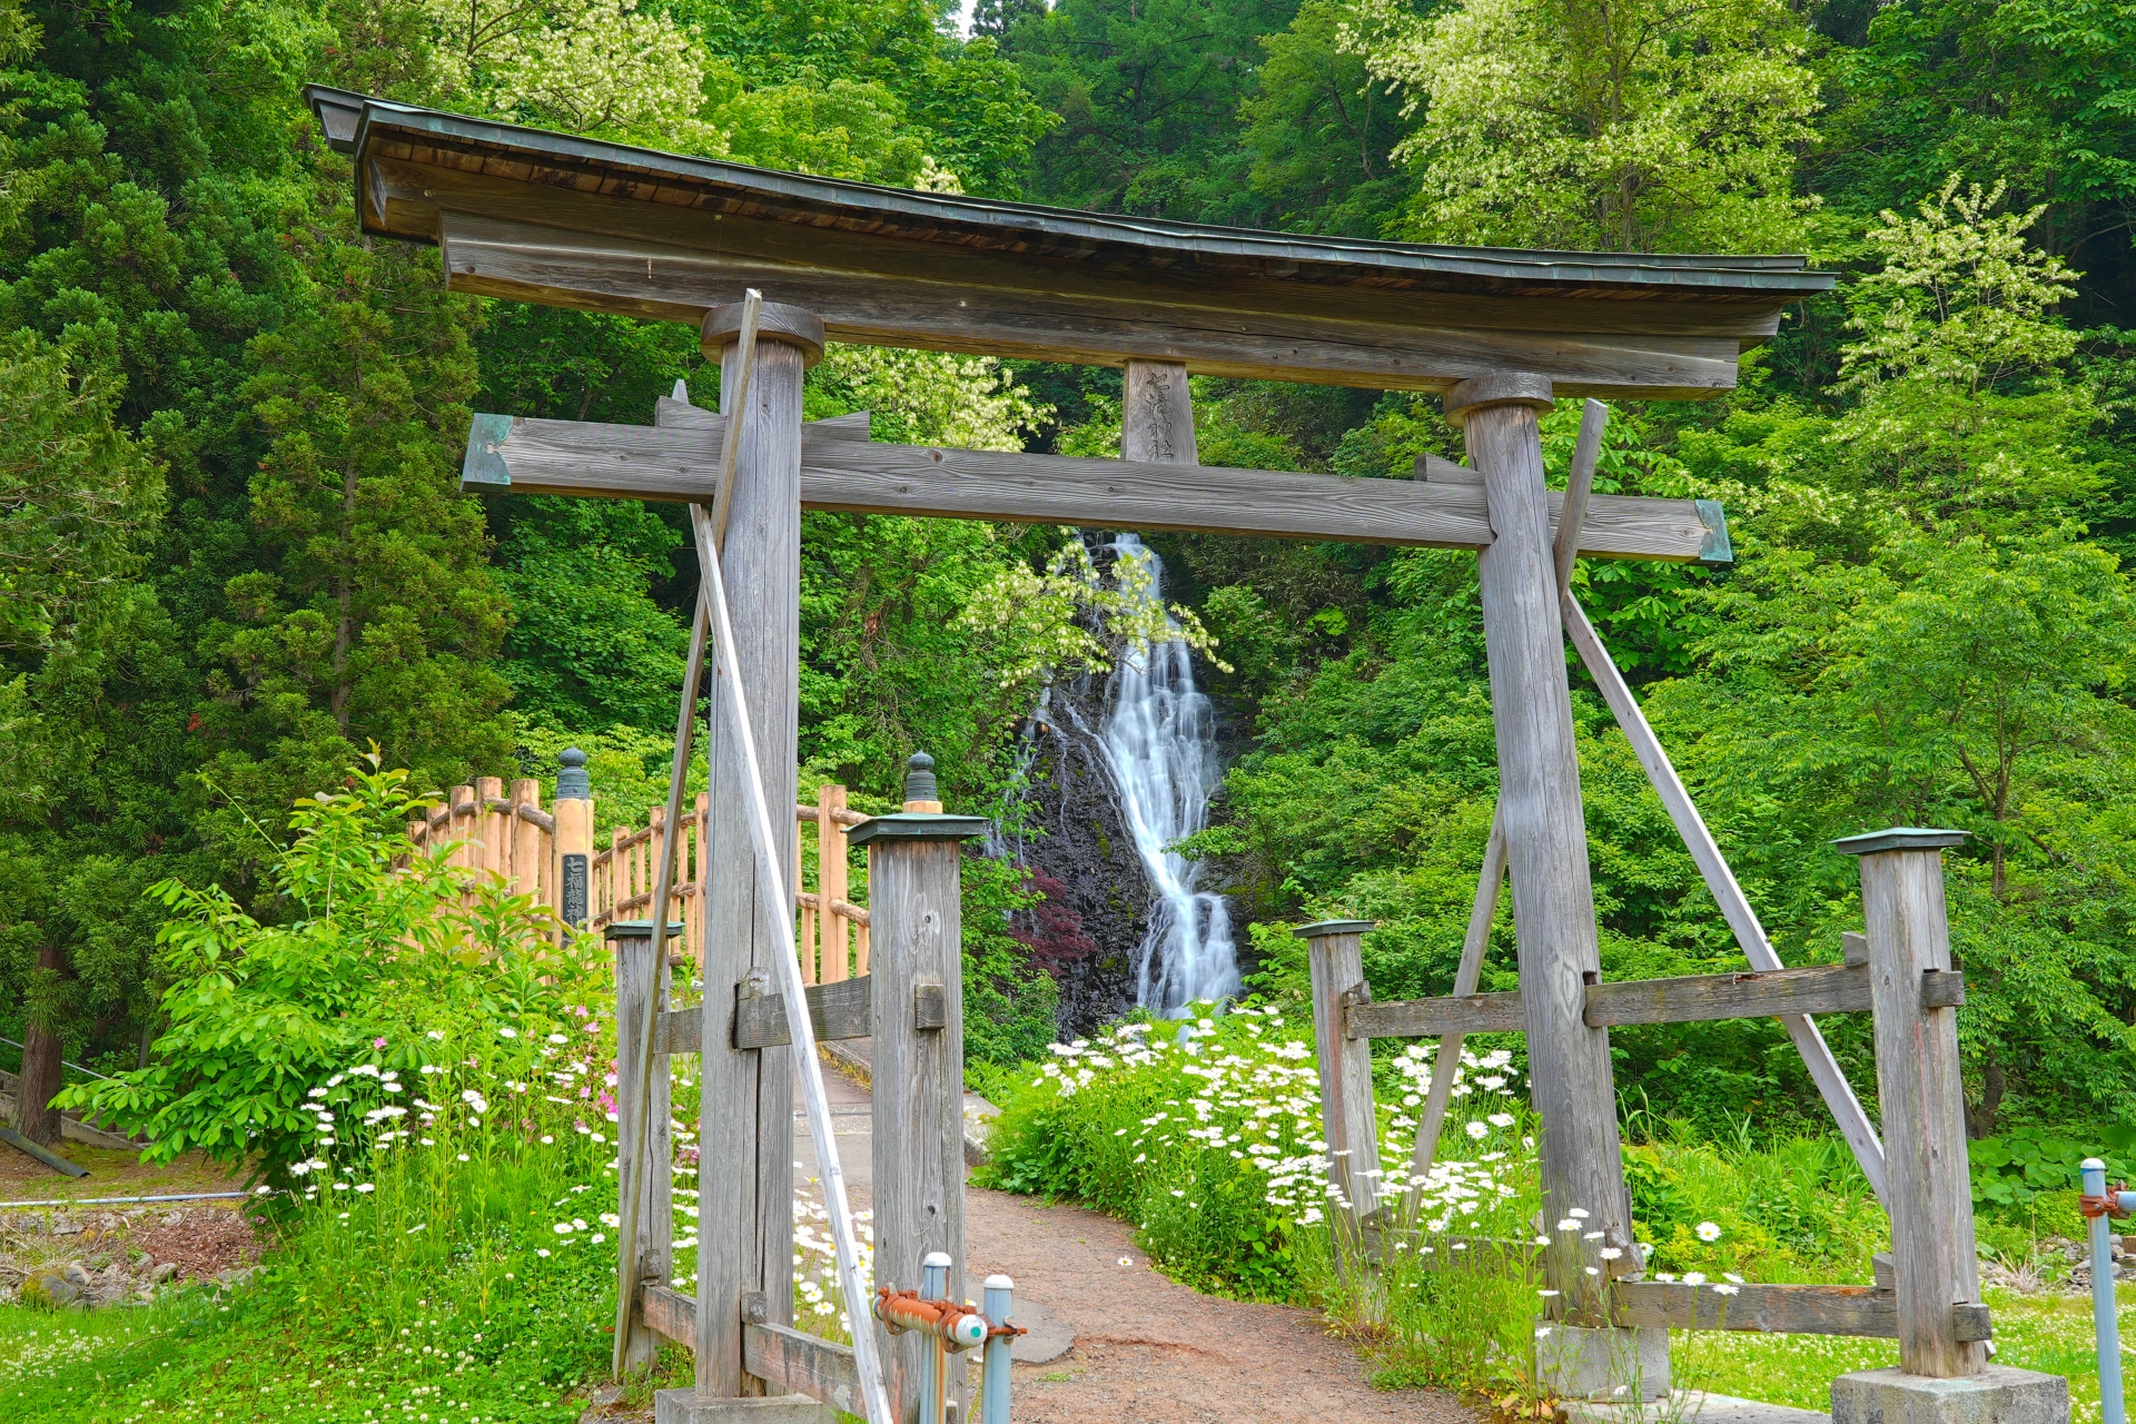
<path fill-rule="evenodd" d="M 867 1093 L 824 1076 L 844 1108 L 835 1123 L 839 1164 L 854 1206 L 865 1208 L 874 1185 Z M 814 1174 L 803 1123 L 795 1125 L 795 1161 Z M 1019 1424 L 1474 1418 L 1435 1390 L 1373 1390 L 1356 1354 L 1329 1339 L 1309 1311 L 1220 1300 L 1166 1281 L 1136 1249 L 1134 1232 L 1113 1217 L 974 1187 L 965 1191 L 963 1234 L 970 1281 L 1008 1275 L 1017 1304 L 1040 1307 L 1051 1332 L 1072 1341 L 1057 1358 L 1017 1364 Z"/>

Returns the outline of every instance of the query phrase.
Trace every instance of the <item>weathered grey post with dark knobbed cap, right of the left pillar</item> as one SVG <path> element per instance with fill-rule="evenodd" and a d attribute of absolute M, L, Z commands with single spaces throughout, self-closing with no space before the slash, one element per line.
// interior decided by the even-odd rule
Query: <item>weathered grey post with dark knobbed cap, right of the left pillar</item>
<path fill-rule="evenodd" d="M 921 1257 L 948 1251 L 948 1298 L 963 1281 L 963 841 L 985 816 L 942 816 L 933 760 L 908 762 L 906 805 L 936 811 L 876 816 L 850 841 L 869 848 L 869 918 L 882 929 L 871 980 L 876 1283 L 918 1287 Z M 916 1424 L 918 1332 L 880 1324 L 884 1383 L 901 1424 Z M 965 1418 L 963 1356 L 951 1356 L 951 1396 Z"/>

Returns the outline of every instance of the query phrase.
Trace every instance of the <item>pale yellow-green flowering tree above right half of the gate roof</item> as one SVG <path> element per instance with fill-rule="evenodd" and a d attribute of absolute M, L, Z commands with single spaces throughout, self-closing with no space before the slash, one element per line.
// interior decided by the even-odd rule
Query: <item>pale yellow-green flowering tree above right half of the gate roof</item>
<path fill-rule="evenodd" d="M 1801 241 L 1818 83 L 1784 0 L 1356 0 L 1341 45 L 1420 128 L 1408 235 L 1745 252 Z"/>

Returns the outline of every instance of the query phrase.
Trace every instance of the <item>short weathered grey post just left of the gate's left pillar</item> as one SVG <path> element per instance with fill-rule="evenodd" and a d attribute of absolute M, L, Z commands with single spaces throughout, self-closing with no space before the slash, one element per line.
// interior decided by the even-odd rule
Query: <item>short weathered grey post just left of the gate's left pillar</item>
<path fill-rule="evenodd" d="M 669 922 L 669 935 L 679 935 L 681 924 Z M 645 1001 L 658 1014 L 666 1008 L 666 944 L 654 948 L 651 920 L 617 920 L 607 927 L 604 937 L 615 948 L 615 1023 L 639 1023 Z M 639 1061 L 639 1038 L 622 1033 L 615 1050 L 615 1140 L 630 1142 L 637 1114 L 637 1085 L 643 1074 L 651 1074 L 651 1095 L 645 1114 L 645 1157 L 622 1161 L 617 1200 L 639 1193 L 639 1281 L 643 1285 L 666 1285 L 675 1266 L 675 1206 L 673 1206 L 673 1161 L 675 1149 L 669 1140 L 669 1055 L 654 1053 L 651 1063 Z M 628 1243 L 617 1243 L 622 1253 Z M 630 1315 L 630 1343 L 624 1349 L 624 1368 L 651 1364 L 660 1354 L 660 1336 L 645 1324 L 641 1311 Z"/>

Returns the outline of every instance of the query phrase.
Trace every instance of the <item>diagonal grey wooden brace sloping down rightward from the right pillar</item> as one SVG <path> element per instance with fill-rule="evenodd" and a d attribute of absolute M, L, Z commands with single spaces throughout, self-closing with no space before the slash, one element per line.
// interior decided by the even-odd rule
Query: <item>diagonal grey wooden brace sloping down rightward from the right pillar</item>
<path fill-rule="evenodd" d="M 1593 623 L 1587 621 L 1587 613 L 1570 591 L 1559 596 L 1559 613 L 1564 617 L 1566 634 L 1572 638 L 1572 647 L 1579 649 L 1581 662 L 1587 664 L 1587 673 L 1596 679 L 1596 687 L 1602 690 L 1602 700 L 1608 702 L 1611 715 L 1617 717 L 1617 726 L 1632 743 L 1632 754 L 1638 756 L 1638 764 L 1647 771 L 1647 779 L 1662 798 L 1662 807 L 1668 811 L 1668 818 L 1677 822 L 1677 835 L 1683 837 L 1685 850 L 1692 852 L 1692 863 L 1696 863 L 1698 873 L 1705 875 L 1707 890 L 1713 892 L 1713 901 L 1719 905 L 1722 918 L 1728 920 L 1728 929 L 1734 931 L 1737 946 L 1743 950 L 1749 967 L 1762 971 L 1779 969 L 1779 954 L 1773 950 L 1773 942 L 1764 937 L 1758 912 L 1749 907 L 1749 897 L 1743 895 L 1743 886 L 1737 884 L 1734 871 L 1730 871 L 1728 860 L 1722 858 L 1722 850 L 1713 841 L 1713 833 L 1707 830 L 1705 818 L 1700 818 L 1698 807 L 1692 805 L 1692 794 L 1683 790 L 1683 779 L 1677 775 L 1668 754 L 1662 749 L 1662 739 L 1653 734 L 1653 728 L 1647 724 L 1647 715 L 1638 709 L 1638 700 L 1632 698 L 1630 685 L 1625 685 L 1623 675 L 1617 673 L 1615 660 L 1611 660 L 1608 649 L 1602 647 L 1602 638 L 1596 636 Z M 1833 1057 L 1831 1046 L 1824 1042 L 1824 1035 L 1818 1033 L 1818 1025 L 1807 1014 L 1788 1014 L 1779 1023 L 1794 1042 L 1794 1050 L 1801 1055 L 1803 1067 L 1809 1070 L 1811 1082 L 1818 1085 L 1818 1093 L 1824 1097 L 1824 1106 L 1831 1108 L 1833 1121 L 1839 1125 L 1839 1136 L 1846 1138 L 1863 1176 L 1869 1178 L 1869 1187 L 1886 1206 L 1890 1206 L 1884 1185 L 1884 1144 L 1878 1142 L 1875 1125 L 1869 1121 L 1860 1099 L 1854 1095 L 1854 1087 L 1848 1082 L 1848 1076 L 1839 1072 L 1839 1059 Z"/>

